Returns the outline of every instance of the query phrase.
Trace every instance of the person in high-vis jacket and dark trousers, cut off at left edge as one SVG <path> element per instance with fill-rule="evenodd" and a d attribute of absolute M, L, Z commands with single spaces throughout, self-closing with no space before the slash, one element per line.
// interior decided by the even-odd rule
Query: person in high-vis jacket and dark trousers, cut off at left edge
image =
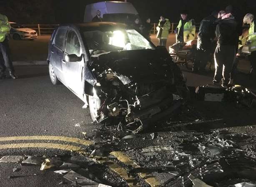
<path fill-rule="evenodd" d="M 0 61 L 0 79 L 5 78 L 5 69 L 7 68 L 10 77 L 16 79 L 14 74 L 13 62 L 10 59 L 10 47 L 8 44 L 8 32 L 10 31 L 10 24 L 5 15 L 0 14 L 0 52 L 3 56 L 3 62 Z"/>

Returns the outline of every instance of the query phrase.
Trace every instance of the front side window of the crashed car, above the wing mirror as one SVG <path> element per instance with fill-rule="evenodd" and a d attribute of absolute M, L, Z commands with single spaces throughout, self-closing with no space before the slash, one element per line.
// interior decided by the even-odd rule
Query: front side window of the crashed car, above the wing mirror
<path fill-rule="evenodd" d="M 68 32 L 65 52 L 67 52 L 68 55 L 75 54 L 78 57 L 81 55 L 81 45 L 78 40 L 78 36 L 73 30 Z"/>

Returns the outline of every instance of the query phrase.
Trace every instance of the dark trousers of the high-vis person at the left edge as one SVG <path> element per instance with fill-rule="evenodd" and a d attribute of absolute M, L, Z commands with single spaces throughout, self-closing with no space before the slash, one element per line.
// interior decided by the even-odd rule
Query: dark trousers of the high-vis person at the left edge
<path fill-rule="evenodd" d="M 0 42 L 0 53 L 0 75 L 5 72 L 5 69 L 7 69 L 9 72 L 14 72 L 7 38 L 5 38 L 3 42 Z"/>

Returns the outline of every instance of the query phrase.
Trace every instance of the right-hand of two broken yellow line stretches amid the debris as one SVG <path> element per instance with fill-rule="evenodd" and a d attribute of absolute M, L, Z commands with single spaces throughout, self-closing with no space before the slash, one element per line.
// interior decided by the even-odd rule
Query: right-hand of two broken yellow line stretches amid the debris
<path fill-rule="evenodd" d="M 134 168 L 140 168 L 133 160 L 131 160 L 127 155 L 123 152 L 114 151 L 110 152 L 110 155 L 116 157 L 120 162 L 123 162 L 125 165 L 132 166 Z M 152 175 L 148 175 L 147 173 L 138 173 L 138 175 L 143 178 L 151 187 L 157 187 L 160 185 L 160 182 L 156 179 L 156 177 Z"/>

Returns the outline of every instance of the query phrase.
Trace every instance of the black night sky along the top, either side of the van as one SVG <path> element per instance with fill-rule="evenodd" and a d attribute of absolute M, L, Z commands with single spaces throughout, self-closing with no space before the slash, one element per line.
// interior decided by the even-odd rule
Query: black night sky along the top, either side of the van
<path fill-rule="evenodd" d="M 0 0 L 0 12 L 9 20 L 20 23 L 72 23 L 83 22 L 85 5 L 101 0 Z M 188 10 L 190 17 L 200 22 L 213 10 L 231 4 L 238 20 L 248 12 L 256 13 L 256 0 L 128 0 L 138 10 L 141 18 L 151 17 L 157 22 L 165 15 L 171 22 L 178 22 L 181 10 Z"/>

